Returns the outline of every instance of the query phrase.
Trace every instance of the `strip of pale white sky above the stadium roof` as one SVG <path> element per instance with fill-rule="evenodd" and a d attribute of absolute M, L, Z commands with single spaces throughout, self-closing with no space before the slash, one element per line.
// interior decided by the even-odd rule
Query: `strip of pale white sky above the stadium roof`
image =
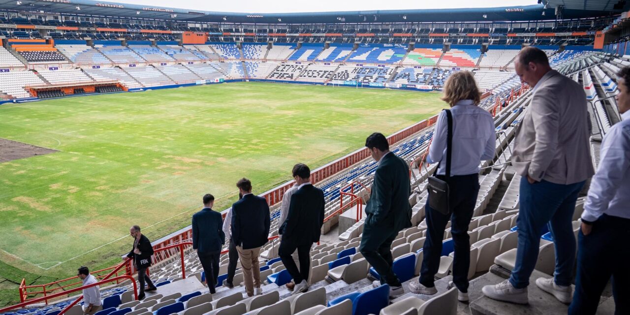
<path fill-rule="evenodd" d="M 453 9 L 527 6 L 537 0 L 110 0 L 168 8 L 236 13 L 295 13 L 326 11 L 372 11 L 395 9 Z"/>

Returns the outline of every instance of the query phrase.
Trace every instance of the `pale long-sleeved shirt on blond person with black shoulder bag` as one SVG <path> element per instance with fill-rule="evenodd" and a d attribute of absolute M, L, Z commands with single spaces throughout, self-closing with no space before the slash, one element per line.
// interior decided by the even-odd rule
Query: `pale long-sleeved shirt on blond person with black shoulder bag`
<path fill-rule="evenodd" d="M 479 162 L 495 157 L 495 122 L 489 112 L 474 105 L 473 100 L 458 101 L 450 108 L 453 116 L 453 152 L 450 175 L 479 173 Z M 438 115 L 428 163 L 440 163 L 438 175 L 446 174 L 446 137 L 448 120 L 444 111 Z"/>

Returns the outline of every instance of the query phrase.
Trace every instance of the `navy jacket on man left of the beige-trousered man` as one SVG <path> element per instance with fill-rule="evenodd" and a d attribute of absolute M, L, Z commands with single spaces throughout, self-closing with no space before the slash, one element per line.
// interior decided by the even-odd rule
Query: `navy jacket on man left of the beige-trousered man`
<path fill-rule="evenodd" d="M 198 253 L 217 253 L 226 243 L 223 219 L 219 212 L 203 208 L 193 214 L 193 249 Z"/>

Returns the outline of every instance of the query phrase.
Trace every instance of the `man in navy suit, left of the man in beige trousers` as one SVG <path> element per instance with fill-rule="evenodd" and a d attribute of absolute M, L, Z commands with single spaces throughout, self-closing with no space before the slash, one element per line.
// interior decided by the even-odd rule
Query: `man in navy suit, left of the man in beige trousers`
<path fill-rule="evenodd" d="M 219 256 L 226 243 L 226 234 L 222 230 L 223 219 L 219 212 L 212 210 L 213 205 L 214 196 L 207 193 L 203 196 L 203 209 L 193 215 L 193 249 L 197 249 L 210 294 L 215 293 Z"/>

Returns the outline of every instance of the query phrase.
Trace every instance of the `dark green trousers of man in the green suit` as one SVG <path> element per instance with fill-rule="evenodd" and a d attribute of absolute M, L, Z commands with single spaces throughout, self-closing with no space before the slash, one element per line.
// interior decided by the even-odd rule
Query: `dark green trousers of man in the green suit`
<path fill-rule="evenodd" d="M 365 218 L 365 222 L 369 221 Z M 359 250 L 365 257 L 365 260 L 374 267 L 381 284 L 388 284 L 390 287 L 400 287 L 401 283 L 396 273 L 392 269 L 394 258 L 392 257 L 391 246 L 398 235 L 398 231 L 384 229 L 382 227 L 374 227 L 365 224 L 363 236 Z"/>

